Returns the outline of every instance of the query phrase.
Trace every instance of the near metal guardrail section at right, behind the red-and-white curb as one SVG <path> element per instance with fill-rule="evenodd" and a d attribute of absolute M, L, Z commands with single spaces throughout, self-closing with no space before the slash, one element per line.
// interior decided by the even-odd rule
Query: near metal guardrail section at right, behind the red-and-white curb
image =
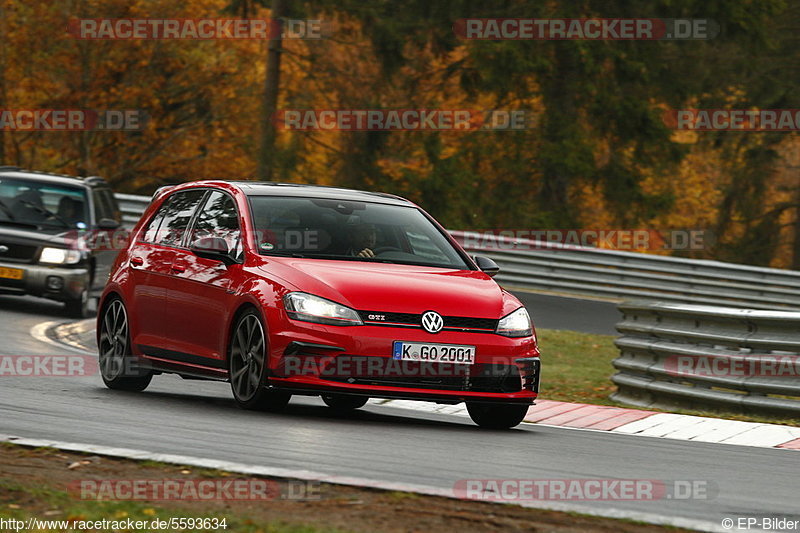
<path fill-rule="evenodd" d="M 800 414 L 800 312 L 653 302 L 619 310 L 613 400 Z"/>

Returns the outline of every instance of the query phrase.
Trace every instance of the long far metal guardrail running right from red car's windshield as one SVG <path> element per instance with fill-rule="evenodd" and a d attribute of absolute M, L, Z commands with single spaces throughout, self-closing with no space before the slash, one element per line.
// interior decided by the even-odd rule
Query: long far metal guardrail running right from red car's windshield
<path fill-rule="evenodd" d="M 800 272 L 452 231 L 507 286 L 625 300 L 800 309 Z"/>

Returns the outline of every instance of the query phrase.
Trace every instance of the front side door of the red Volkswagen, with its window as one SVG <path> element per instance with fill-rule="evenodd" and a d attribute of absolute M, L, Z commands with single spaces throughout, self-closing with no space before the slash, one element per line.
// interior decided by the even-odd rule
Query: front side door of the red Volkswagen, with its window
<path fill-rule="evenodd" d="M 231 195 L 211 190 L 205 197 L 184 247 L 176 251 L 171 280 L 167 289 L 168 323 L 179 324 L 169 333 L 175 351 L 191 354 L 187 362 L 224 368 L 225 324 L 232 307 L 233 280 L 241 265 L 198 257 L 191 244 L 204 237 L 226 241 L 232 256 L 242 253 L 239 213 Z"/>

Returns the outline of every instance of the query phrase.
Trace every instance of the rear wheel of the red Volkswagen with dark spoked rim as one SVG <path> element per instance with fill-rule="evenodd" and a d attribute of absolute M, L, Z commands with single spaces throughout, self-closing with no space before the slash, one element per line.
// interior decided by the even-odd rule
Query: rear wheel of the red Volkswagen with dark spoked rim
<path fill-rule="evenodd" d="M 119 298 L 104 307 L 97 340 L 100 376 L 106 387 L 140 392 L 150 385 L 153 373 L 140 368 L 132 355 L 128 313 Z"/>

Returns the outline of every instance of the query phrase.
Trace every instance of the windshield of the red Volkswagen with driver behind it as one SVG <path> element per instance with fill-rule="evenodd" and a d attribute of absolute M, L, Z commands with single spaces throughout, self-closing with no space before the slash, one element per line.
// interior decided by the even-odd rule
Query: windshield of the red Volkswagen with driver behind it
<path fill-rule="evenodd" d="M 252 196 L 250 208 L 263 255 L 469 268 L 415 207 Z"/>

